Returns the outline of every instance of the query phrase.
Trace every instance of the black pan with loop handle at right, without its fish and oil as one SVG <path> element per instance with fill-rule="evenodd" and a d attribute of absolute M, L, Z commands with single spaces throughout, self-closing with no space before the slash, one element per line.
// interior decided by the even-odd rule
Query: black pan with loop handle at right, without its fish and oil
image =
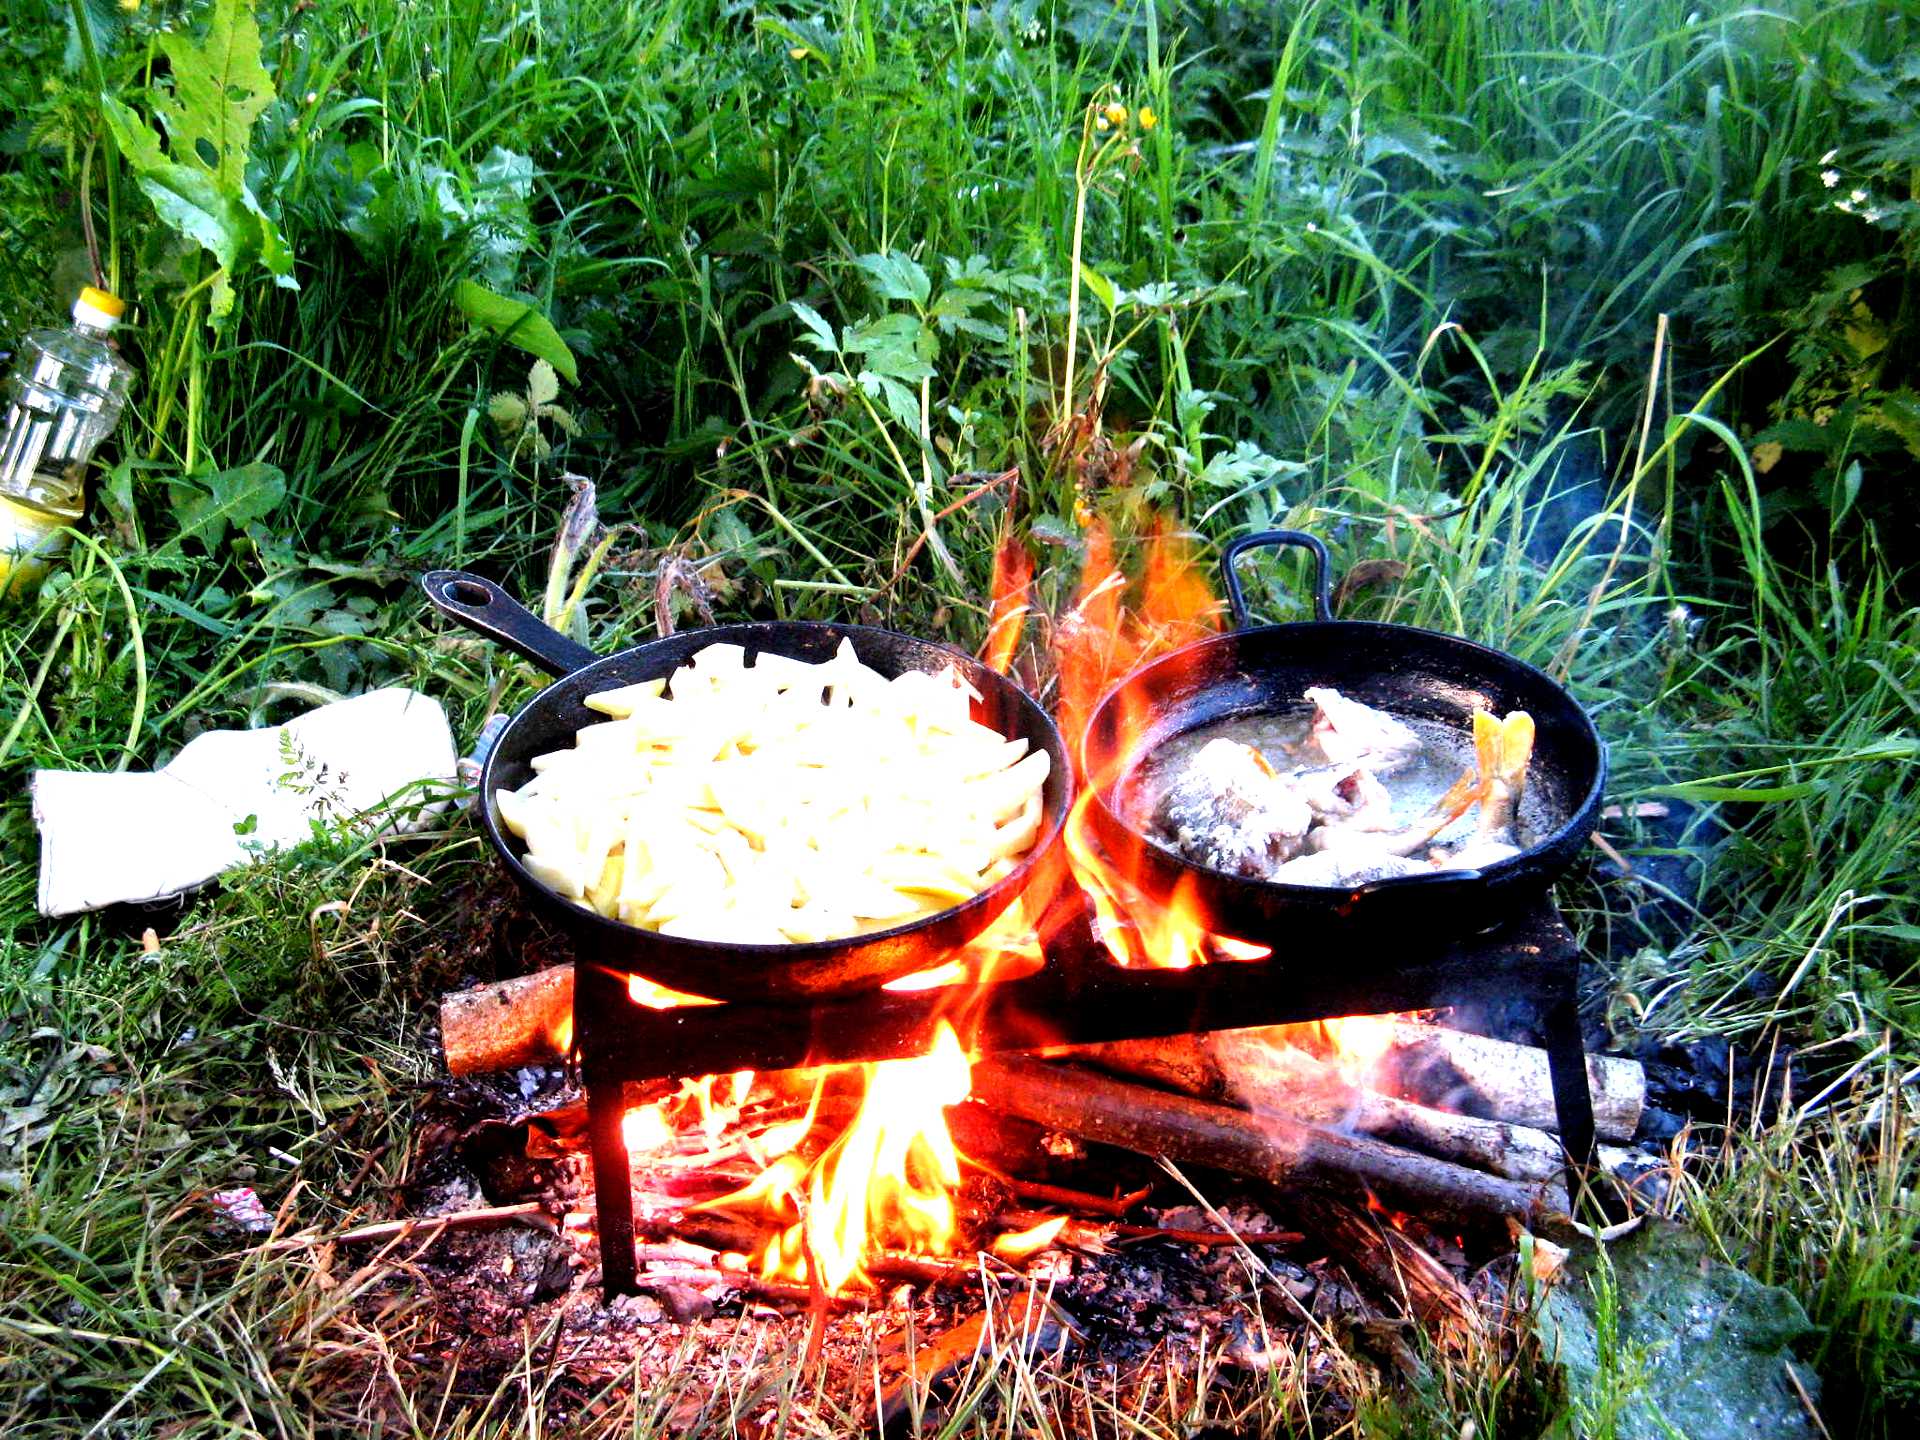
<path fill-rule="evenodd" d="M 1248 626 L 1235 563 L 1252 549 L 1313 555 L 1313 620 Z M 1327 547 L 1300 530 L 1265 530 L 1221 555 L 1235 630 L 1135 670 L 1094 708 L 1081 741 L 1092 791 L 1087 818 L 1106 852 L 1148 899 L 1198 902 L 1225 935 L 1292 939 L 1457 939 L 1546 895 L 1594 833 L 1607 749 L 1586 710 L 1544 672 L 1501 651 L 1415 626 L 1334 620 Z M 1480 870 L 1442 870 L 1350 887 L 1283 885 L 1194 864 L 1152 839 L 1129 804 L 1140 762 L 1175 735 L 1219 720 L 1308 708 L 1309 685 L 1425 720 L 1459 737 L 1471 764 L 1473 712 L 1526 710 L 1536 722 L 1526 768 L 1532 845 Z"/>

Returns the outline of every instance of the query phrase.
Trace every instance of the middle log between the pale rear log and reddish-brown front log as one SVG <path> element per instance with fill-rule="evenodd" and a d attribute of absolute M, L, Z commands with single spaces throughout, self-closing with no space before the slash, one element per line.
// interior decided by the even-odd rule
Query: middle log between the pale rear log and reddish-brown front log
<path fill-rule="evenodd" d="M 1555 1135 L 1534 1125 L 1480 1119 L 1379 1094 L 1283 1039 L 1283 1029 L 1181 1035 L 1167 1041 L 1112 1041 L 1073 1054 L 1102 1069 L 1158 1081 L 1202 1100 L 1254 1114 L 1371 1135 L 1388 1144 L 1455 1160 L 1509 1181 L 1551 1181 L 1567 1156 Z M 1599 1148 L 1607 1173 L 1628 1175 L 1642 1162 L 1619 1146 Z"/>

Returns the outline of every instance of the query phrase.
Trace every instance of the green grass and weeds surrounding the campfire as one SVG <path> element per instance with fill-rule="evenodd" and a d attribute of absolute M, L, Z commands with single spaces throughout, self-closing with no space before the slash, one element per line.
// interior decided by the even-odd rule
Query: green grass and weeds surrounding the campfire
<path fill-rule="evenodd" d="M 411 576 L 474 564 L 538 595 L 563 470 L 622 526 L 580 616 L 601 649 L 651 634 L 668 564 L 722 614 L 973 643 L 1004 526 L 1058 599 L 1077 509 L 1152 501 L 1208 541 L 1284 520 L 1342 564 L 1398 561 L 1350 612 L 1565 674 L 1611 799 L 1693 806 L 1678 835 L 1607 833 L 1697 858 L 1695 895 L 1653 916 L 1638 881 L 1565 889 L 1594 954 L 1624 956 L 1617 1033 L 1809 1046 L 1812 1085 L 1839 1081 L 1728 1135 L 1693 1213 L 1828 1327 L 1836 1434 L 1910 1419 L 1905 10 L 276 4 L 248 182 L 300 288 L 242 255 L 217 328 L 213 257 L 156 219 L 98 102 L 150 113 L 161 33 L 204 12 L 0 19 L 0 330 L 58 317 L 90 228 L 142 372 L 98 543 L 0 622 L 0 1092 L 52 1106 L 0 1135 L 10 1430 L 83 1434 L 115 1400 L 129 1434 L 353 1430 L 369 1371 L 342 1356 L 376 1340 L 353 1286 L 238 1265 L 200 1194 L 252 1167 L 298 1223 L 371 1213 L 340 1190 L 382 1142 L 376 1173 L 405 1154 L 422 998 L 449 979 L 422 945 L 482 860 L 459 824 L 319 847 L 196 900 L 148 956 L 125 925 L 33 914 L 25 774 L 152 766 L 394 682 L 468 737 L 536 682 L 430 624 Z M 1096 94 L 1133 113 L 1077 177 Z M 1882 219 L 1836 209 L 1857 184 Z M 472 328 L 461 282 L 551 321 L 576 424 L 536 444 L 493 419 L 530 388 L 524 346 L 553 348 Z M 1056 438 L 1073 294 L 1066 409 L 1098 413 L 1092 445 Z M 1018 492 L 956 505 L 908 564 L 931 513 L 1010 465 Z M 1256 578 L 1273 616 L 1300 612 L 1288 578 Z M 1035 1413 L 1175 1432 L 1246 1405 L 1248 1432 L 1327 1432 L 1296 1359 L 1119 1413 L 1054 1377 Z M 1500 1365 L 1425 1394 L 1336 1373 L 1382 1430 L 1538 1419 Z M 1008 1359 L 958 1428 L 1035 1384 Z M 399 1432 L 538 1428 L 526 1394 L 455 1415 L 422 1388 Z M 616 1405 L 607 1430 L 649 1427 Z"/>

